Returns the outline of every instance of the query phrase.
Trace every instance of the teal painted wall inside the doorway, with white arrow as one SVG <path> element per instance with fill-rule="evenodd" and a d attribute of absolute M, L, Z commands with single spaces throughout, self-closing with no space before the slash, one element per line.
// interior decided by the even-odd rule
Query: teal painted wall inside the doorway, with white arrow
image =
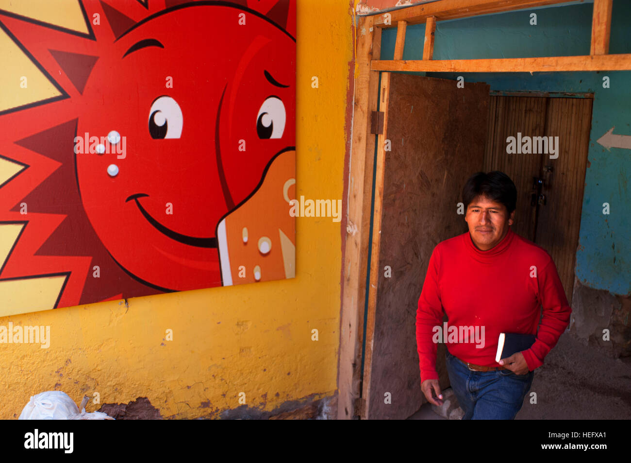
<path fill-rule="evenodd" d="M 527 9 L 500 15 L 440 21 L 434 59 L 588 55 L 592 3 Z M 530 25 L 536 13 L 537 25 Z M 407 28 L 403 59 L 421 59 L 425 25 Z M 381 59 L 392 59 L 396 28 L 382 34 Z M 631 53 L 631 1 L 614 0 L 610 53 Z M 415 73 L 482 81 L 491 90 L 594 93 L 588 167 L 575 273 L 585 286 L 631 294 L 631 150 L 607 150 L 596 140 L 615 126 L 631 136 L 631 71 L 556 73 Z M 603 88 L 603 76 L 610 88 Z M 603 214 L 603 203 L 610 214 Z"/>

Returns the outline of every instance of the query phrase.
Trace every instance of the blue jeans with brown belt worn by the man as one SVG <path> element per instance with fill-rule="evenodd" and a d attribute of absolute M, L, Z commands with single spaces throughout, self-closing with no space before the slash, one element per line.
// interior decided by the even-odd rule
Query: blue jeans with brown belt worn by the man
<path fill-rule="evenodd" d="M 515 419 L 533 384 L 534 371 L 471 371 L 447 351 L 447 373 L 463 419 Z"/>

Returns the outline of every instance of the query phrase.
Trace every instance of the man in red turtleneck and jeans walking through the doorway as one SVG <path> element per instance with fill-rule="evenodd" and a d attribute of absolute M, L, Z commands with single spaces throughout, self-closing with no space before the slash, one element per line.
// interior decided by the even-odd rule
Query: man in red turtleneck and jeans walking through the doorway
<path fill-rule="evenodd" d="M 418 299 L 423 394 L 430 403 L 442 404 L 436 352 L 437 342 L 446 342 L 447 372 L 463 419 L 514 419 L 533 370 L 570 320 L 552 258 L 510 229 L 516 201 L 515 184 L 503 172 L 471 176 L 463 189 L 469 231 L 435 246 Z M 443 311 L 449 319 L 446 332 Z M 533 334 L 536 340 L 498 363 L 500 333 Z"/>

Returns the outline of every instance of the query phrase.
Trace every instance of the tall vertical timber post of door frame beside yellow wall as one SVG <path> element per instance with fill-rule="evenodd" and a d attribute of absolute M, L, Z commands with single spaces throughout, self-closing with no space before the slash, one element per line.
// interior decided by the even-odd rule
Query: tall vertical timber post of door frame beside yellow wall
<path fill-rule="evenodd" d="M 370 114 L 377 110 L 379 72 L 370 61 L 380 57 L 381 29 L 370 16 L 358 19 L 355 100 L 348 179 L 340 347 L 338 368 L 338 419 L 353 419 L 362 381 L 363 314 L 370 232 L 372 173 L 375 137 L 370 135 Z M 372 29 L 372 30 L 371 30 Z"/>

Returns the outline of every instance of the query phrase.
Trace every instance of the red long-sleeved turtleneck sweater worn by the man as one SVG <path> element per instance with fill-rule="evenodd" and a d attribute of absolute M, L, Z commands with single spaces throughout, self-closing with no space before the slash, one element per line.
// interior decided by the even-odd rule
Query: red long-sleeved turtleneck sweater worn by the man
<path fill-rule="evenodd" d="M 531 371 L 543 364 L 557 344 L 572 311 L 550 255 L 510 227 L 504 239 L 488 251 L 476 248 L 469 232 L 434 248 L 416 311 L 421 381 L 438 378 L 433 328 L 443 327 L 443 310 L 449 317 L 447 327 L 478 327 L 479 334 L 485 328 L 482 348 L 476 348 L 474 339 L 447 342 L 446 333 L 442 341 L 453 356 L 476 365 L 500 366 L 495 362 L 500 333 L 536 335 L 533 346 L 522 351 Z"/>

